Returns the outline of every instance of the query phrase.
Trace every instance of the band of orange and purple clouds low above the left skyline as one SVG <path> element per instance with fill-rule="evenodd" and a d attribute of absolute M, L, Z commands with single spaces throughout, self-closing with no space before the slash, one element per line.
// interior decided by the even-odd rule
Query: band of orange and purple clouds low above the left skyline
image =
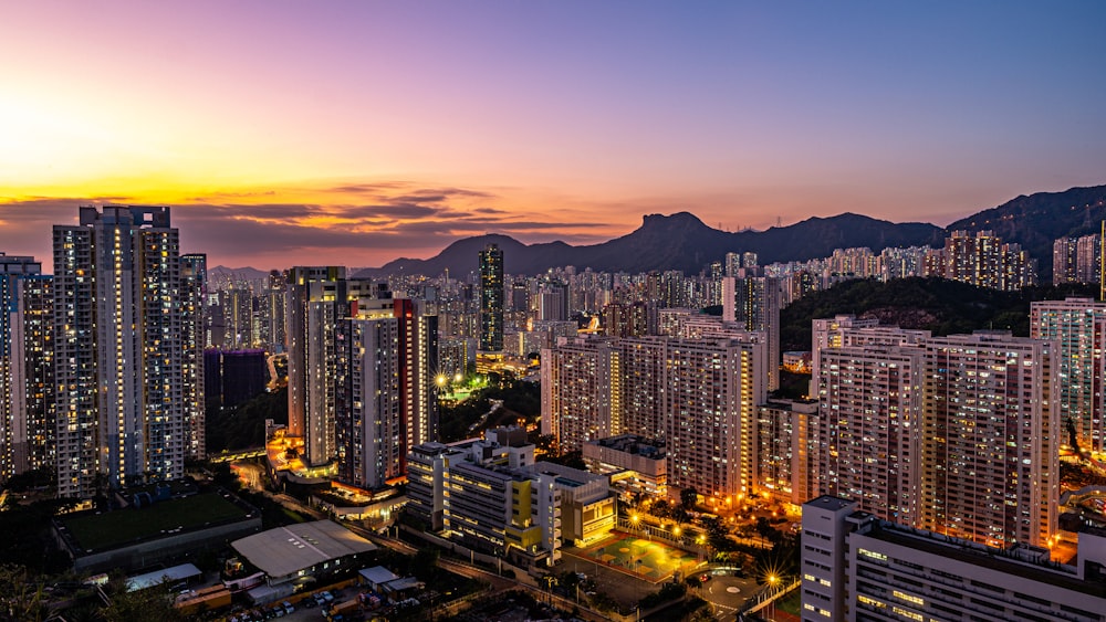
<path fill-rule="evenodd" d="M 483 190 L 398 180 L 215 192 L 179 202 L 0 197 L 0 252 L 49 260 L 53 224 L 75 223 L 80 205 L 108 203 L 170 205 L 181 252 L 207 253 L 212 265 L 383 265 L 400 255 L 430 257 L 458 239 L 484 233 L 574 244 L 623 233 L 593 220 L 562 222 L 560 212 L 545 219 L 512 210 L 509 199 Z"/>

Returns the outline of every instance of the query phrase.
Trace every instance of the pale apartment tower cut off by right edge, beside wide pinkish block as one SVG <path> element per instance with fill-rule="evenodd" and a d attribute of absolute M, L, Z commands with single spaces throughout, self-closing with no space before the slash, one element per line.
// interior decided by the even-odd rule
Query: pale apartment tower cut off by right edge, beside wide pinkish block
<path fill-rule="evenodd" d="M 1062 441 L 1074 436 L 1081 450 L 1106 451 L 1106 303 L 1075 297 L 1030 303 L 1030 337 L 1056 344 L 1054 412 Z"/>

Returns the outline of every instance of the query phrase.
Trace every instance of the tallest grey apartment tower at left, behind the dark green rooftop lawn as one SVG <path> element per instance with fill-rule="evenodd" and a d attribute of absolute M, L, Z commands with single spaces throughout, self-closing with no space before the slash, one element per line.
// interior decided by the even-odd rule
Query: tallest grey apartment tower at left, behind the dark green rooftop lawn
<path fill-rule="evenodd" d="M 81 208 L 54 225 L 58 493 L 184 475 L 181 262 L 169 209 Z"/>

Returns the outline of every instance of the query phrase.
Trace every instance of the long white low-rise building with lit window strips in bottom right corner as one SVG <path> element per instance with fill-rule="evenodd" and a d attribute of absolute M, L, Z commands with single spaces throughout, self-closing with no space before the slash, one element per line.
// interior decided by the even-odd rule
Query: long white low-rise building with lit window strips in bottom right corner
<path fill-rule="evenodd" d="M 1106 531 L 1078 565 L 896 525 L 828 495 L 803 505 L 802 620 L 1106 621 Z"/>

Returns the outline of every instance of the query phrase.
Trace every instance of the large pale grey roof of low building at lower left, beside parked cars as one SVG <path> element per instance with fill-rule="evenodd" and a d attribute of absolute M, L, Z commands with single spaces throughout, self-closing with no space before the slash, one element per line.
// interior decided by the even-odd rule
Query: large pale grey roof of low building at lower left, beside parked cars
<path fill-rule="evenodd" d="M 270 577 L 285 577 L 342 557 L 371 552 L 376 545 L 332 520 L 269 529 L 230 544 Z"/>

